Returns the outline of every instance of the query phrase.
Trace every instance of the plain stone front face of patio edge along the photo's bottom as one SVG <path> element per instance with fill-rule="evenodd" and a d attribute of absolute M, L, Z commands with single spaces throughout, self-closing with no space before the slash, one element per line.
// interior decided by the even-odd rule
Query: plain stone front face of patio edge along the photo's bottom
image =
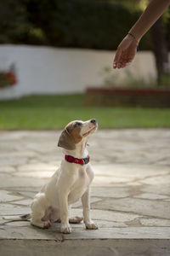
<path fill-rule="evenodd" d="M 2 255 L 18 256 L 169 256 L 168 240 L 159 239 L 91 239 L 91 240 L 0 240 Z"/>

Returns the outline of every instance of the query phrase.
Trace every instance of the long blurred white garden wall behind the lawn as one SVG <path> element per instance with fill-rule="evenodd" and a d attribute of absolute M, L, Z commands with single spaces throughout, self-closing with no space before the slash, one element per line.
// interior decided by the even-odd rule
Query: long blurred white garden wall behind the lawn
<path fill-rule="evenodd" d="M 102 84 L 104 77 L 99 73 L 104 67 L 112 66 L 114 54 L 106 50 L 1 45 L 0 70 L 15 63 L 19 83 L 0 89 L 0 99 L 83 92 L 87 86 Z M 113 71 L 119 83 L 125 77 L 126 68 Z M 128 69 L 136 77 L 156 78 L 154 57 L 150 52 L 139 52 Z"/>

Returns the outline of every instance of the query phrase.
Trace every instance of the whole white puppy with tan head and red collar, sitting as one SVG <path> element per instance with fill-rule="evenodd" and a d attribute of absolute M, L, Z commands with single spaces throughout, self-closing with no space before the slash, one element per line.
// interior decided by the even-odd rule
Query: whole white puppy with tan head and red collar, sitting
<path fill-rule="evenodd" d="M 58 146 L 63 148 L 65 159 L 59 169 L 49 179 L 31 204 L 31 214 L 8 220 L 31 218 L 31 224 L 48 228 L 52 222 L 61 222 L 61 232 L 71 233 L 69 223 L 80 223 L 83 219 L 86 228 L 96 230 L 98 226 L 90 218 L 89 187 L 94 179 L 94 171 L 89 162 L 88 137 L 97 130 L 95 119 L 72 121 L 65 126 L 59 137 Z M 68 207 L 82 199 L 83 218 L 68 218 Z"/>

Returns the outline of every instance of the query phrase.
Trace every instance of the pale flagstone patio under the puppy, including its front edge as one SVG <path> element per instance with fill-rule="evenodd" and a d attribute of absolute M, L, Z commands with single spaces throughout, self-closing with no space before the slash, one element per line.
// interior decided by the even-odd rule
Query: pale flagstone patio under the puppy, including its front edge
<path fill-rule="evenodd" d="M 99 230 L 71 235 L 3 215 L 30 212 L 32 197 L 59 166 L 60 131 L 0 132 L 0 255 L 170 255 L 170 130 L 102 130 L 89 141 L 92 217 Z M 81 202 L 71 216 L 82 215 Z"/>

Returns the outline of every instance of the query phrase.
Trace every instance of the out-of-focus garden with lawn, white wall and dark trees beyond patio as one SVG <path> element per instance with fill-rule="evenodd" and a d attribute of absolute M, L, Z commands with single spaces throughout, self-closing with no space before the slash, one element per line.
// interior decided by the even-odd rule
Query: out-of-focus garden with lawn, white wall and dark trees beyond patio
<path fill-rule="evenodd" d="M 0 9 L 0 129 L 170 126 L 170 10 L 112 70 L 141 0 L 6 0 Z"/>

